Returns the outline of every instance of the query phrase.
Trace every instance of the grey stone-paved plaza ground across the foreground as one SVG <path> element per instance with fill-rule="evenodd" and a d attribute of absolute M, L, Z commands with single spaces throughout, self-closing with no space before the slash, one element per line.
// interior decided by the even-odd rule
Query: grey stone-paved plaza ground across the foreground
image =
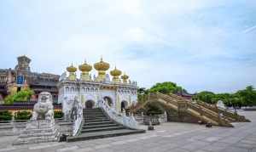
<path fill-rule="evenodd" d="M 241 115 L 252 122 L 234 123 L 234 128 L 168 122 L 143 134 L 75 143 L 12 146 L 16 137 L 1 137 L 0 152 L 256 152 L 256 111 Z"/>

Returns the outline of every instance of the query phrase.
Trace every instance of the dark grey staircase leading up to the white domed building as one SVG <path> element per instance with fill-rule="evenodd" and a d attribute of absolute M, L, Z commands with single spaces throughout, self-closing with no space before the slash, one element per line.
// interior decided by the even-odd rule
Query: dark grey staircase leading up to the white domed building
<path fill-rule="evenodd" d="M 134 133 L 143 133 L 144 130 L 134 130 L 110 120 L 102 109 L 84 109 L 84 124 L 80 129 L 79 136 L 68 137 L 67 142 L 89 140 L 96 138 L 108 138 L 123 136 Z"/>

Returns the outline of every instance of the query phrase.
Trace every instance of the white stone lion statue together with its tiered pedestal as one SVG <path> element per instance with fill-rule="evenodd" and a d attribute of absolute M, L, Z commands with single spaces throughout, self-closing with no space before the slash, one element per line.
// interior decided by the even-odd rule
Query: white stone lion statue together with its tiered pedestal
<path fill-rule="evenodd" d="M 32 119 L 27 121 L 26 129 L 13 143 L 38 144 L 58 141 L 60 137 L 59 127 L 55 124 L 52 96 L 48 92 L 39 94 L 38 103 L 34 105 Z"/>

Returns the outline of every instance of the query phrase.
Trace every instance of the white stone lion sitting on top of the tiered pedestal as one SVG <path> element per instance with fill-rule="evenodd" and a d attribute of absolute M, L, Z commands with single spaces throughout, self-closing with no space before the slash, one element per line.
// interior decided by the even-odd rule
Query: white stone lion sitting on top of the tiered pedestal
<path fill-rule="evenodd" d="M 54 120 L 52 95 L 42 92 L 38 96 L 38 103 L 34 105 L 32 120 Z"/>

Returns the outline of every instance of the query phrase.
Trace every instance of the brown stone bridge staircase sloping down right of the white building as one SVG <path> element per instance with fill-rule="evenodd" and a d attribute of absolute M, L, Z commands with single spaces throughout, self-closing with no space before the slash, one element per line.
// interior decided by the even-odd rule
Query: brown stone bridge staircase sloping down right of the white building
<path fill-rule="evenodd" d="M 207 106 L 202 106 L 198 103 L 192 103 L 188 99 L 177 96 L 176 94 L 149 93 L 143 97 L 143 104 L 137 109 L 144 107 L 149 102 L 156 102 L 162 105 L 166 110 L 172 112 L 172 120 L 182 122 L 211 122 L 212 125 L 222 127 L 233 127 L 231 124 L 235 120 L 234 115 L 224 111 L 212 110 Z M 224 115 L 220 115 L 223 112 Z M 240 121 L 245 121 L 243 116 L 239 116 Z"/>

